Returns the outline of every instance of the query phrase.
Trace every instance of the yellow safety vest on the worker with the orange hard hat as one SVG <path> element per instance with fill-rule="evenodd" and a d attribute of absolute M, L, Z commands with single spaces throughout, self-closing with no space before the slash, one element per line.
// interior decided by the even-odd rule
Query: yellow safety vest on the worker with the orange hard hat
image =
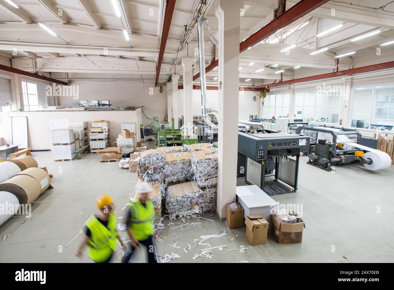
<path fill-rule="evenodd" d="M 116 250 L 115 216 L 110 213 L 108 228 L 100 223 L 95 216 L 87 221 L 86 226 L 91 232 L 87 247 L 88 256 L 97 263 L 105 261 Z"/>

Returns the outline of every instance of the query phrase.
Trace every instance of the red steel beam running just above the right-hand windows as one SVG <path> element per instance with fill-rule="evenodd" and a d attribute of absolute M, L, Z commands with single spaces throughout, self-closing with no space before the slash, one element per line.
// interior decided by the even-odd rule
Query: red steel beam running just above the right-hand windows
<path fill-rule="evenodd" d="M 272 84 L 264 84 L 262 86 L 249 87 L 249 89 L 259 91 L 262 88 L 265 88 L 266 86 L 272 88 L 274 86 L 283 86 L 288 84 L 296 84 L 299 82 L 309 82 L 312 80 L 322 80 L 322 79 L 329 79 L 333 77 L 342 77 L 344 75 L 354 75 L 357 73 L 368 73 L 370 71 L 378 71 L 380 69 L 389 69 L 389 68 L 394 68 L 394 61 L 384 62 L 382 64 L 373 64 L 373 65 L 367 65 L 362 67 L 356 67 L 354 69 L 346 69 L 344 71 L 336 71 L 334 73 L 323 73 L 322 75 L 314 75 L 311 77 L 304 77 L 301 79 L 285 80 L 283 82 L 273 82 Z"/>

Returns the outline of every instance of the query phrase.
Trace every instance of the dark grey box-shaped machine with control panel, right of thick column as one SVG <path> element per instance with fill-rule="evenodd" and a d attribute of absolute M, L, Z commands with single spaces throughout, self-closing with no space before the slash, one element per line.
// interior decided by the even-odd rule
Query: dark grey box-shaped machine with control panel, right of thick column
<path fill-rule="evenodd" d="M 268 129 L 250 132 L 238 132 L 238 166 L 244 166 L 245 182 L 268 195 L 296 192 L 299 157 L 308 154 L 309 137 Z"/>

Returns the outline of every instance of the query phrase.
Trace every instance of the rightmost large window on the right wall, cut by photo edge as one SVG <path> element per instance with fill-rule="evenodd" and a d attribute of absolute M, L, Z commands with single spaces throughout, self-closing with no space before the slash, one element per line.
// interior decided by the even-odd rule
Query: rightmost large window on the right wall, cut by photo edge
<path fill-rule="evenodd" d="M 353 88 L 351 127 L 392 130 L 394 126 L 394 84 Z"/>

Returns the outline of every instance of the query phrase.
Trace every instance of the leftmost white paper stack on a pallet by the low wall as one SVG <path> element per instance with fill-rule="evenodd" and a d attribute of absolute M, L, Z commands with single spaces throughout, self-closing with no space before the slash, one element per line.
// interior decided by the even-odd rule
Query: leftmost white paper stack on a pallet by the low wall
<path fill-rule="evenodd" d="M 74 130 L 55 129 L 50 133 L 54 160 L 74 159 L 76 156 Z"/>

